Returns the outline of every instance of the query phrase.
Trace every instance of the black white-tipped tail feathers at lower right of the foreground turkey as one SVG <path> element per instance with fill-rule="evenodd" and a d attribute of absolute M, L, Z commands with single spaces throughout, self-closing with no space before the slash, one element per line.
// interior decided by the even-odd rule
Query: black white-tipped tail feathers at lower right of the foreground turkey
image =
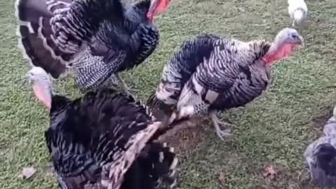
<path fill-rule="evenodd" d="M 148 173 L 149 178 L 156 183 L 157 187 L 164 185 L 168 188 L 174 188 L 178 164 L 174 148 L 169 148 L 166 143 L 153 143 L 146 148 L 148 148 L 148 152 L 144 159 L 144 172 Z"/>

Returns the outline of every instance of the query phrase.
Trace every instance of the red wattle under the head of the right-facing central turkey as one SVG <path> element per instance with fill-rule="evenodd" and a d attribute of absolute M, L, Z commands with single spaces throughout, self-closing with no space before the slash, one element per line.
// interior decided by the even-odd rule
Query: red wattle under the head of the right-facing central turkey
<path fill-rule="evenodd" d="M 272 64 L 273 62 L 289 57 L 292 54 L 294 48 L 295 44 L 282 45 L 279 50 L 276 50 L 275 52 L 269 53 L 265 55 L 265 57 L 262 57 L 262 60 L 265 62 L 265 64 Z"/>

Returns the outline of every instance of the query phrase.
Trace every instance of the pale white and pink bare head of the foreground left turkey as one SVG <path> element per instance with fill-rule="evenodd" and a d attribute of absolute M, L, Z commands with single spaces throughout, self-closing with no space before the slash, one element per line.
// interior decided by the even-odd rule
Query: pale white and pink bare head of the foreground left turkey
<path fill-rule="evenodd" d="M 52 82 L 48 73 L 41 67 L 34 67 L 28 71 L 28 79 L 37 99 L 50 110 Z"/>

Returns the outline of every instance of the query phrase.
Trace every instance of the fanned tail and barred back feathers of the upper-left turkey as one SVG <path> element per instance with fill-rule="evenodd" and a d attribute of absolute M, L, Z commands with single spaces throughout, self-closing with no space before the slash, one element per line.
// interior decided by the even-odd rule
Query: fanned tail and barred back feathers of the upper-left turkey
<path fill-rule="evenodd" d="M 34 66 L 58 78 L 103 20 L 123 17 L 119 0 L 18 0 L 19 47 Z"/>

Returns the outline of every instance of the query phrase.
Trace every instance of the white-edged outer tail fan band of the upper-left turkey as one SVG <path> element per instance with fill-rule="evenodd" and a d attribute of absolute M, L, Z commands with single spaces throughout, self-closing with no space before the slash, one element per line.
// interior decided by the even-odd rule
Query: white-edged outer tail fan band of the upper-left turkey
<path fill-rule="evenodd" d="M 69 4 L 70 0 L 17 0 L 15 3 L 18 47 L 30 66 L 41 66 L 53 78 L 65 71 L 72 54 L 61 52 L 52 41 L 50 19 L 52 10 L 66 8 Z"/>

